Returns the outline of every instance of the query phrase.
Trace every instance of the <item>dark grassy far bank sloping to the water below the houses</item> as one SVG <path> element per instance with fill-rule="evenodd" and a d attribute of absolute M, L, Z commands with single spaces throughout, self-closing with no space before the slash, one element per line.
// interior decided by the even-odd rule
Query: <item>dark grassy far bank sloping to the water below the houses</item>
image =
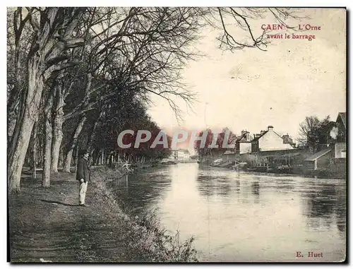
<path fill-rule="evenodd" d="M 345 179 L 346 158 L 336 157 L 336 148 L 323 148 L 317 153 L 309 149 L 271 150 L 237 154 L 226 152 L 222 156 L 204 160 L 213 167 L 240 169 L 247 172 L 295 174 L 304 177 Z"/>

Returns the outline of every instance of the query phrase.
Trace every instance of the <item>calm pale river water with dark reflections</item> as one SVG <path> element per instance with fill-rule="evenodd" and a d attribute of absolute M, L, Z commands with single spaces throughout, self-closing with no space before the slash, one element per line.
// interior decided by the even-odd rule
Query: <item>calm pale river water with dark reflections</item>
<path fill-rule="evenodd" d="M 161 224 L 179 230 L 181 240 L 195 237 L 200 261 L 345 260 L 342 179 L 189 163 L 145 169 L 118 181 L 116 194 L 133 214 L 157 210 Z"/>

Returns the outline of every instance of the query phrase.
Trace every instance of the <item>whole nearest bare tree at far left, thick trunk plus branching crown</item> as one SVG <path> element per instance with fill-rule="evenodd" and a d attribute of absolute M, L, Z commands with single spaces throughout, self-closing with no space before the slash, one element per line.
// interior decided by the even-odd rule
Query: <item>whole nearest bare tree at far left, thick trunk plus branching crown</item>
<path fill-rule="evenodd" d="M 66 49 L 82 44 L 83 40 L 73 38 L 77 18 L 84 8 L 22 8 L 14 13 L 16 40 L 22 37 L 22 25 L 30 23 L 33 35 L 30 51 L 25 55 L 27 75 L 25 88 L 11 92 L 20 97 L 16 126 L 8 149 L 8 181 L 11 192 L 20 190 L 20 173 L 28 148 L 33 124 L 37 121 L 44 84 L 54 71 L 71 66 L 61 64 Z M 25 18 L 23 18 L 23 14 Z M 20 93 L 19 93 L 20 92 Z"/>

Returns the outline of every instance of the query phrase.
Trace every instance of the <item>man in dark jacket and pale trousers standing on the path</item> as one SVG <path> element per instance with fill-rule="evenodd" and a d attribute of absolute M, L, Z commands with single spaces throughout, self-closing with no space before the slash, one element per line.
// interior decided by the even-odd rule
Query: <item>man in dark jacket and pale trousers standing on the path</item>
<path fill-rule="evenodd" d="M 76 179 L 80 181 L 80 192 L 78 195 L 78 204 L 85 205 L 85 196 L 87 191 L 88 181 L 90 181 L 90 167 L 88 166 L 89 153 L 86 150 L 80 150 L 78 155 L 78 165 Z"/>

